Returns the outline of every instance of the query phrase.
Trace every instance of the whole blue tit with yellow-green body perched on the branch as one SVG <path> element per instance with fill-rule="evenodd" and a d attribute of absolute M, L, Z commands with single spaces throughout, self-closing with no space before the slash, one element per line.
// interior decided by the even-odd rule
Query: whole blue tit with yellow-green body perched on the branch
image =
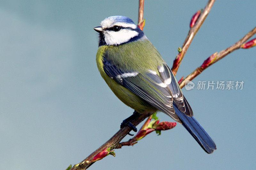
<path fill-rule="evenodd" d="M 93 29 L 99 34 L 97 67 L 116 97 L 140 114 L 164 112 L 182 124 L 205 152 L 216 150 L 193 117 L 172 70 L 132 19 L 111 16 Z"/>

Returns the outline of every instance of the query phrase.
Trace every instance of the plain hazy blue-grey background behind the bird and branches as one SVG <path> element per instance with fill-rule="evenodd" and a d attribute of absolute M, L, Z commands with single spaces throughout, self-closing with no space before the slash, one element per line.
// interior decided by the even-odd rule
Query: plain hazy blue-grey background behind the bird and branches
<path fill-rule="evenodd" d="M 145 1 L 144 33 L 171 67 L 192 15 L 207 1 Z M 217 51 L 255 27 L 256 1 L 217 1 L 177 73 L 187 76 Z M 65 169 L 105 143 L 133 110 L 108 88 L 96 66 L 98 35 L 106 17 L 135 23 L 138 1 L 0 2 L 0 169 Z M 256 36 L 253 36 L 254 38 Z M 116 149 L 90 169 L 253 169 L 255 162 L 256 47 L 232 52 L 182 89 L 217 145 L 205 153 L 178 124 Z M 197 89 L 205 82 L 205 89 Z M 208 82 L 214 89 L 207 89 Z M 216 89 L 217 82 L 244 82 Z M 235 87 L 235 86 L 234 86 Z M 164 113 L 162 121 L 173 121 Z M 142 124 L 138 125 L 140 128 Z M 126 136 L 123 141 L 130 139 Z"/>

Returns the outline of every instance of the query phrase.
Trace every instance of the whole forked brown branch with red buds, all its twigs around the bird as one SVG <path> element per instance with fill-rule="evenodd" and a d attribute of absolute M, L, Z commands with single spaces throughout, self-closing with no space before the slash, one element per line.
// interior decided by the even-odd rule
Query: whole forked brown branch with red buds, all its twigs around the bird
<path fill-rule="evenodd" d="M 184 58 L 193 38 L 195 37 L 197 31 L 200 29 L 200 27 L 202 26 L 205 18 L 207 17 L 207 15 L 209 14 L 212 5 L 214 4 L 215 0 L 209 0 L 207 5 L 205 6 L 204 10 L 202 12 L 198 11 L 192 18 L 192 21 L 190 23 L 190 30 L 188 33 L 188 36 L 186 37 L 183 45 L 182 45 L 182 49 L 180 49 L 180 53 L 177 55 L 177 57 L 175 58 L 174 62 L 173 62 L 173 66 L 172 66 L 172 72 L 174 75 L 176 75 L 179 67 L 180 67 L 180 63 L 182 61 L 182 59 Z M 140 29 L 142 30 L 144 25 L 145 25 L 145 20 L 143 20 L 143 10 L 144 10 L 144 0 L 139 0 L 139 17 L 138 17 L 138 27 L 140 27 Z M 200 15 L 199 15 L 200 12 Z M 193 20 L 194 19 L 194 20 Z M 227 56 L 229 53 L 233 52 L 234 50 L 237 50 L 239 48 L 250 48 L 252 46 L 256 45 L 256 40 L 253 40 L 251 42 L 248 42 L 246 44 L 243 44 L 244 42 L 246 42 L 250 37 L 252 37 L 252 35 L 254 35 L 256 33 L 256 27 L 254 29 L 252 29 L 252 31 L 250 31 L 248 34 L 246 34 L 241 40 L 239 40 L 238 42 L 236 42 L 234 45 L 230 46 L 229 48 L 227 48 L 226 50 L 222 50 L 219 53 L 215 53 L 212 56 L 210 56 L 209 58 L 207 58 L 203 65 L 198 67 L 193 73 L 189 74 L 184 80 L 181 79 L 179 81 L 180 84 L 180 88 L 183 88 L 185 86 L 185 82 L 187 80 L 192 80 L 194 79 L 197 75 L 199 75 L 204 69 L 208 68 L 209 66 L 211 66 L 212 64 L 214 64 L 215 62 L 219 61 L 221 58 L 224 58 L 225 56 Z M 147 117 L 149 117 L 152 113 L 147 113 L 147 114 L 141 114 L 138 118 L 134 119 L 131 121 L 131 123 L 134 126 L 137 126 L 140 122 L 142 122 L 144 119 L 146 119 Z M 148 118 L 147 121 L 150 121 L 151 117 Z M 147 121 L 145 122 L 147 124 Z M 161 122 L 163 123 L 163 122 Z M 164 122 L 163 124 L 161 124 L 158 122 L 155 122 L 155 130 L 157 128 L 162 128 L 162 130 L 166 130 L 166 129 L 171 129 L 173 128 L 176 124 L 170 124 Z M 168 126 L 167 126 L 168 125 Z M 145 124 L 143 125 L 143 127 L 145 126 Z M 145 135 L 147 135 L 148 133 L 150 133 L 151 131 L 154 131 L 153 129 L 144 129 L 141 128 L 139 133 L 136 135 L 137 138 L 142 138 Z M 163 127 L 167 127 L 165 129 L 163 129 Z M 153 128 L 149 127 L 149 128 Z M 146 134 L 141 134 L 141 133 L 145 133 Z M 129 127 L 124 127 L 121 128 L 118 132 L 116 132 L 116 134 L 114 136 L 112 136 L 106 143 L 104 143 L 102 146 L 100 146 L 100 148 L 98 148 L 96 151 L 94 151 L 92 154 L 90 154 L 87 158 L 85 158 L 83 161 L 81 161 L 79 164 L 76 164 L 75 166 L 73 166 L 71 169 L 72 170 L 84 170 L 87 169 L 88 167 L 90 167 L 95 161 L 100 160 L 104 157 L 106 157 L 107 155 L 113 155 L 115 156 L 115 153 L 112 151 L 115 148 L 121 148 L 121 146 L 124 145 L 132 145 L 134 143 L 136 143 L 136 136 L 134 137 L 134 139 L 132 138 L 131 140 L 127 141 L 127 142 L 123 142 L 120 143 L 120 141 L 131 131 L 131 129 Z"/>

